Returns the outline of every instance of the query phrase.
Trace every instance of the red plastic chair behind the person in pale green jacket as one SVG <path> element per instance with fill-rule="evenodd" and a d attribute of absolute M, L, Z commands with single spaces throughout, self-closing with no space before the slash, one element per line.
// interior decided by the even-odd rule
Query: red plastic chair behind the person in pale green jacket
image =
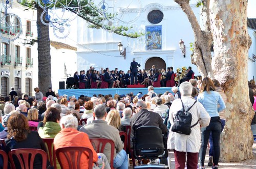
<path fill-rule="evenodd" d="M 47 149 L 48 149 L 47 159 L 50 161 L 54 169 L 56 169 L 57 165 L 56 165 L 56 155 L 55 155 L 54 146 L 53 146 L 53 139 L 54 138 L 43 138 L 42 140 L 47 144 Z"/>

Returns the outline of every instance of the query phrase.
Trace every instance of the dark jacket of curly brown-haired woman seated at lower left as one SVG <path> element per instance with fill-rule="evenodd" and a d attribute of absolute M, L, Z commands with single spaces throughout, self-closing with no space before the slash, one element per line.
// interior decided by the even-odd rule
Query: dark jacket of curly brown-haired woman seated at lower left
<path fill-rule="evenodd" d="M 47 153 L 47 149 L 44 141 L 42 141 L 41 137 L 38 135 L 36 131 L 30 131 L 27 138 L 23 141 L 16 141 L 14 139 L 7 139 L 6 142 L 6 153 L 12 149 L 41 149 Z M 16 164 L 16 168 L 20 168 L 19 162 L 14 158 L 14 163 Z M 47 166 L 50 165 L 50 162 L 47 160 Z M 42 168 L 42 158 L 41 156 L 35 156 L 34 159 L 34 168 Z"/>

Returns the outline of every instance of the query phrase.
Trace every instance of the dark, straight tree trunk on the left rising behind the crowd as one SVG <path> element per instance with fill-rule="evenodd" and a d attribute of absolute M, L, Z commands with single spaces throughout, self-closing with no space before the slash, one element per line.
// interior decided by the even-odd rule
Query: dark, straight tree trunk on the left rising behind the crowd
<path fill-rule="evenodd" d="M 38 50 L 38 87 L 43 94 L 52 87 L 51 79 L 51 47 L 49 26 L 42 24 L 40 16 L 44 10 L 37 7 L 37 50 Z"/>

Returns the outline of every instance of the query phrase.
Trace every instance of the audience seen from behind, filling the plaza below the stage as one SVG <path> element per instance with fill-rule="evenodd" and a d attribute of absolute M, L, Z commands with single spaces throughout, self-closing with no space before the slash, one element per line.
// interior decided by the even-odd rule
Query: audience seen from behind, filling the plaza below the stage
<path fill-rule="evenodd" d="M 173 87 L 172 93 L 156 93 L 153 86 L 148 86 L 147 93 L 139 92 L 136 95 L 133 92 L 114 96 L 94 94 L 92 97 L 81 94 L 76 98 L 74 95 L 55 94 L 43 97 L 42 101 L 26 95 L 24 99 L 14 97 L 13 101 L 6 102 L 2 101 L 5 98 L 0 98 L 0 108 L 3 108 L 0 113 L 0 139 L 6 139 L 6 146 L 1 146 L 7 153 L 20 148 L 41 149 L 47 153 L 42 139 L 53 138 L 55 151 L 65 147 L 91 149 L 93 157 L 88 157 L 87 153 L 81 155 L 81 168 L 88 168 L 89 158 L 93 158 L 93 168 L 113 166 L 127 169 L 127 153 L 132 152 L 129 149 L 123 150 L 124 140 L 119 136 L 119 132 L 127 132 L 125 126 L 131 126 L 131 144 L 128 147 L 132 147 L 132 137 L 135 136 L 137 128 L 156 126 L 162 133 L 170 132 L 168 149 L 174 150 L 176 168 L 184 168 L 185 163 L 187 168 L 197 168 L 201 144 L 200 168 L 203 169 L 208 140 L 208 165 L 218 168 L 220 134 L 225 125 L 223 110 L 226 102 L 219 82 L 209 78 L 204 78 L 202 82 L 190 79 L 189 82 L 183 82 L 179 88 Z M 214 100 L 211 99 L 211 95 L 214 95 Z M 4 106 L 1 107 L 1 104 Z M 193 117 L 191 125 L 196 124 L 188 136 L 171 131 L 173 119 L 176 113 L 182 110 L 182 106 L 190 108 L 189 112 Z M 37 131 L 33 131 L 31 127 L 37 127 Z M 210 134 L 211 131 L 215 132 Z M 110 139 L 114 142 L 114 148 L 106 145 L 103 154 L 96 152 L 90 142 L 93 138 Z M 99 156 L 103 161 L 102 166 L 97 162 Z M 63 155 L 60 154 L 59 159 L 62 168 L 69 168 L 68 161 Z M 1 160 L 3 159 L 0 156 L 0 164 L 3 164 Z M 58 162 L 56 165 L 59 167 Z M 19 168 L 17 161 L 15 165 Z M 42 166 L 40 157 L 36 157 L 34 161 L 34 167 L 38 166 Z M 47 161 L 47 168 L 52 167 Z"/>

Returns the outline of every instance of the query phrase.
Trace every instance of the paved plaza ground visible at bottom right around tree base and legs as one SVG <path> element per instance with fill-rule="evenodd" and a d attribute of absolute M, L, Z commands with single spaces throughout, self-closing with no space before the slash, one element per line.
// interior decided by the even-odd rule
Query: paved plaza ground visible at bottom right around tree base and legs
<path fill-rule="evenodd" d="M 206 151 L 206 157 L 205 157 L 205 168 L 211 168 L 210 166 L 207 166 L 208 162 L 208 152 L 209 149 Z M 252 146 L 252 153 L 253 153 L 253 158 L 249 160 L 244 160 L 244 161 L 239 161 L 239 162 L 219 162 L 219 168 L 221 169 L 256 169 L 256 141 L 254 141 L 253 146 Z M 170 169 L 175 168 L 175 161 L 174 161 L 174 152 L 169 152 L 169 157 L 171 158 L 172 161 L 172 166 Z M 129 169 L 132 169 L 133 167 L 130 166 Z"/>

